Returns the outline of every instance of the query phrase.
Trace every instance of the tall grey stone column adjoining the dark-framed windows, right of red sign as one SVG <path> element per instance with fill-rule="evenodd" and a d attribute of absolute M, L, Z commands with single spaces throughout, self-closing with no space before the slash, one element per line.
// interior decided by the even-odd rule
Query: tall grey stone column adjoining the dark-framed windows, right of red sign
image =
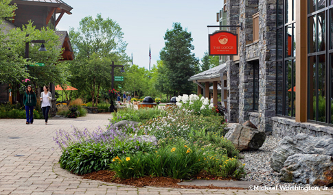
<path fill-rule="evenodd" d="M 295 4 L 297 5 L 297 3 Z M 259 0 L 259 113 L 260 129 L 272 132 L 276 109 L 276 1 Z"/>

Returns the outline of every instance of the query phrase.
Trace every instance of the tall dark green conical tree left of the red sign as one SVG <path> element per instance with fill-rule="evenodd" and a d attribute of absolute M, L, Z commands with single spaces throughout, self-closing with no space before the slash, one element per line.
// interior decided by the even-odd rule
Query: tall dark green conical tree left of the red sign
<path fill-rule="evenodd" d="M 168 88 L 178 94 L 191 93 L 194 85 L 187 79 L 198 70 L 198 59 L 192 53 L 193 38 L 187 29 L 183 30 L 180 23 L 174 23 L 172 27 L 165 33 L 165 47 L 160 52 L 160 58 L 167 68 Z"/>

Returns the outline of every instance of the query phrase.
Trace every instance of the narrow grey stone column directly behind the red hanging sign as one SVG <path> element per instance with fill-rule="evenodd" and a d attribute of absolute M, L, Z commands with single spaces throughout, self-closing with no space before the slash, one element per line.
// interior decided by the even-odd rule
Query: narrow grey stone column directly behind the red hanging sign
<path fill-rule="evenodd" d="M 227 0 L 227 25 L 238 25 L 240 21 L 240 0 Z M 236 34 L 236 27 L 228 31 Z M 239 66 L 233 62 L 233 56 L 227 56 L 227 119 L 228 122 L 238 122 L 239 105 Z"/>

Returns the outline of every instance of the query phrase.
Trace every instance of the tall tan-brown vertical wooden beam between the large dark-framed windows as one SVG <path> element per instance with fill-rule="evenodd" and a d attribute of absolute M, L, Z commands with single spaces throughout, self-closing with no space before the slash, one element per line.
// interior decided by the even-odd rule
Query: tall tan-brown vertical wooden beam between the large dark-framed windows
<path fill-rule="evenodd" d="M 307 0 L 296 0 L 296 122 L 307 121 L 307 92 L 308 92 L 308 10 Z"/>

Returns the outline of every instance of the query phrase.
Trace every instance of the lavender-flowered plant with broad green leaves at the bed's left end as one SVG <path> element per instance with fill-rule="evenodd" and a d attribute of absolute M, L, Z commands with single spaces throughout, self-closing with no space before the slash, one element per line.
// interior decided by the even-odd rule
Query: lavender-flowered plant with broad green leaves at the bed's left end
<path fill-rule="evenodd" d="M 62 151 L 60 166 L 76 174 L 86 174 L 97 170 L 106 170 L 111 160 L 122 155 L 148 152 L 155 148 L 150 142 L 127 140 L 133 132 L 132 126 L 123 129 L 102 131 L 97 129 L 90 133 L 87 129 L 80 131 L 73 128 L 69 133 L 64 130 L 56 132 L 54 142 Z"/>

